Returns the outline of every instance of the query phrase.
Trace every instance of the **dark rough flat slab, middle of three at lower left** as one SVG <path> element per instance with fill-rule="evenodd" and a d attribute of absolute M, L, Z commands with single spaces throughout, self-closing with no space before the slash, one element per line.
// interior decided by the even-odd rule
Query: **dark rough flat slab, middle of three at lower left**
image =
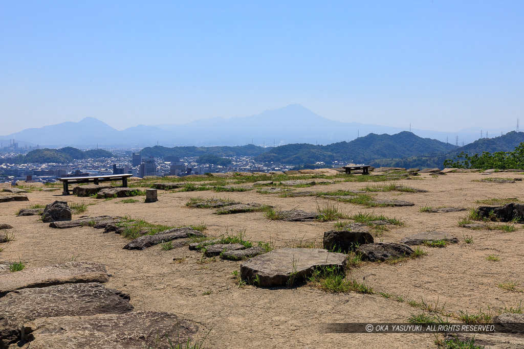
<path fill-rule="evenodd" d="M 133 309 L 129 295 L 99 283 L 16 290 L 0 298 L 0 343 L 18 342 L 21 326 L 38 318 L 124 314 Z"/>

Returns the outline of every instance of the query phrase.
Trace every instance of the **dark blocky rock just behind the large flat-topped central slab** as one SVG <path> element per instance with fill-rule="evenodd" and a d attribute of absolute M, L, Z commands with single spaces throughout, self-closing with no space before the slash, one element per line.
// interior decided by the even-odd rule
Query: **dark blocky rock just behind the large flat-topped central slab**
<path fill-rule="evenodd" d="M 353 251 L 360 245 L 373 242 L 373 236 L 364 227 L 326 231 L 322 239 L 324 249 L 341 252 Z"/>

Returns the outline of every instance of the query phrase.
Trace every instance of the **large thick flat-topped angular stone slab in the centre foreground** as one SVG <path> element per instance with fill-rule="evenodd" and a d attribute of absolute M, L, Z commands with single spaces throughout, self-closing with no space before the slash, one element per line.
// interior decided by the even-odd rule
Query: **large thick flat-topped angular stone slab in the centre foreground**
<path fill-rule="evenodd" d="M 315 268 L 336 267 L 343 273 L 346 269 L 343 253 L 331 253 L 322 249 L 278 249 L 253 257 L 240 265 L 243 280 L 252 282 L 258 277 L 258 286 L 282 286 L 288 284 L 291 274 L 302 280 L 313 274 Z"/>

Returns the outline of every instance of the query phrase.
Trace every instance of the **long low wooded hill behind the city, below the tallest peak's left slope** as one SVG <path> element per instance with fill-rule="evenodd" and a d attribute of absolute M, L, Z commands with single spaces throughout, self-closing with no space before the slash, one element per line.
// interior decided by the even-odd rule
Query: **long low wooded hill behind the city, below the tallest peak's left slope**
<path fill-rule="evenodd" d="M 238 145 L 236 147 L 162 147 L 155 145 L 155 147 L 147 147 L 140 150 L 140 155 L 144 156 L 179 156 L 192 157 L 202 155 L 216 155 L 216 156 L 257 156 L 264 153 L 268 149 L 258 147 L 257 145 L 247 144 Z"/>

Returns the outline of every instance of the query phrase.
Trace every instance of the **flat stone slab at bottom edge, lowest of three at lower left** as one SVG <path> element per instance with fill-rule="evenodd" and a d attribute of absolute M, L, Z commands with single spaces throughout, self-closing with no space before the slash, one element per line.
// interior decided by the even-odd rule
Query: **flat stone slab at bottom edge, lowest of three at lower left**
<path fill-rule="evenodd" d="M 24 324 L 22 341 L 31 349 L 169 348 L 193 342 L 198 326 L 173 313 L 134 311 L 78 317 L 40 318 Z M 160 342 L 160 343 L 158 343 Z M 173 346 L 171 346 L 173 347 Z"/>

